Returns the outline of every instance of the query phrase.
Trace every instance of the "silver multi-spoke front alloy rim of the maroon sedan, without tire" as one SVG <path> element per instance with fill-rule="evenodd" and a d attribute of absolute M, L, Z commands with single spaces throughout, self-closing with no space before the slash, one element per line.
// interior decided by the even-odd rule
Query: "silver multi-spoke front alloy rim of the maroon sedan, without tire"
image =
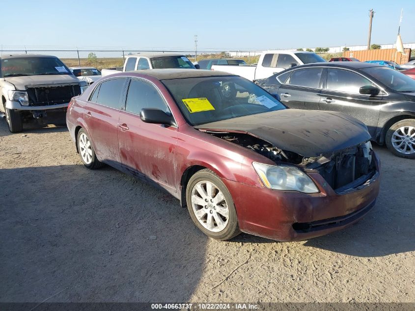
<path fill-rule="evenodd" d="M 194 215 L 204 228 L 220 232 L 227 226 L 228 205 L 215 184 L 207 180 L 196 183 L 192 189 L 191 201 Z"/>

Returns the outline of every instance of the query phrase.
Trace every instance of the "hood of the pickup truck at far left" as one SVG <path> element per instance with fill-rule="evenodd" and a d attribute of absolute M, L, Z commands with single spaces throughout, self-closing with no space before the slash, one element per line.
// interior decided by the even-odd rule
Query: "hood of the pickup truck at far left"
<path fill-rule="evenodd" d="M 28 85 L 46 86 L 79 84 L 79 80 L 73 75 L 5 77 L 4 80 L 10 82 L 16 87 L 16 89 L 20 90 L 26 89 Z"/>

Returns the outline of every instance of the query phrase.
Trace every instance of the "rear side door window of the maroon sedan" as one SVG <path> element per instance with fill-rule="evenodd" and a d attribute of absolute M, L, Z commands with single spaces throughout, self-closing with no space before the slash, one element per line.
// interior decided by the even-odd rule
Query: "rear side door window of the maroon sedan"
<path fill-rule="evenodd" d="M 124 90 L 125 81 L 125 78 L 118 78 L 102 82 L 99 86 L 96 102 L 107 107 L 121 109 L 120 99 Z"/>

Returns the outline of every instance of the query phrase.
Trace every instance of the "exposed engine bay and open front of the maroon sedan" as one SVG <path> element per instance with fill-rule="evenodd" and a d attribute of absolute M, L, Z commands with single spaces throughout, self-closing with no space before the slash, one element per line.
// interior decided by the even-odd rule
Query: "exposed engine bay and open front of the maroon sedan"
<path fill-rule="evenodd" d="M 251 149 L 276 164 L 290 163 L 307 170 L 317 170 L 336 192 L 358 187 L 375 173 L 370 141 L 340 151 L 333 151 L 331 154 L 307 158 L 295 152 L 279 149 L 248 133 L 211 131 L 206 133 Z"/>

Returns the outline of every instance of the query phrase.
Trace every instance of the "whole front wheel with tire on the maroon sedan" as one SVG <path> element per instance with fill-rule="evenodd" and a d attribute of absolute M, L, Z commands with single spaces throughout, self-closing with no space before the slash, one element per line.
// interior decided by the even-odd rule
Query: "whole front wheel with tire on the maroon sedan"
<path fill-rule="evenodd" d="M 186 203 L 194 224 L 207 236 L 224 241 L 241 233 L 232 197 L 212 170 L 199 170 L 190 178 Z"/>

